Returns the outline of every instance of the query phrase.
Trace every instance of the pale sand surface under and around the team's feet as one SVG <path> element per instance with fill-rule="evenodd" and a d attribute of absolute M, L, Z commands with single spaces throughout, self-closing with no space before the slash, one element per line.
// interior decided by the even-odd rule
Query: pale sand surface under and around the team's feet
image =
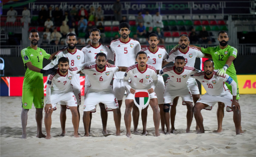
<path fill-rule="evenodd" d="M 217 105 L 212 111 L 202 110 L 204 118 L 204 134 L 195 132 L 195 120 L 192 121 L 191 132 L 186 132 L 186 106 L 177 106 L 175 133 L 160 134 L 155 137 L 153 112 L 148 109 L 147 130 L 149 135 L 133 135 L 126 137 L 124 122 L 125 101 L 121 107 L 121 136 L 115 136 L 113 113 L 108 112 L 108 135 L 103 136 L 99 107 L 93 113 L 91 136 L 72 137 L 73 126 L 71 113 L 67 110 L 66 136 L 60 137 L 60 106 L 52 115 L 52 139 L 36 138 L 35 108 L 29 111 L 26 140 L 21 139 L 21 97 L 0 97 L 0 156 L 1 157 L 256 157 L 256 95 L 241 95 L 242 128 L 244 134 L 236 135 L 233 113 L 225 112 L 223 132 L 217 129 Z M 82 102 L 83 104 L 83 102 Z M 83 114 L 83 107 L 80 107 Z M 139 132 L 142 132 L 141 120 Z M 133 129 L 133 123 L 131 124 Z M 80 120 L 79 132 L 84 134 L 83 121 Z M 43 122 L 43 133 L 45 126 Z"/>

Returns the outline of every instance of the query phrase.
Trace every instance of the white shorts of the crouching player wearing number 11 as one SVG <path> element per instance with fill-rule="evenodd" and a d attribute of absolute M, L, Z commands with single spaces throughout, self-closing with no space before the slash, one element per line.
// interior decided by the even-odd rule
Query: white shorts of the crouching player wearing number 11
<path fill-rule="evenodd" d="M 181 96 L 184 101 L 192 101 L 192 95 L 190 94 L 189 88 L 184 88 L 180 90 L 166 90 L 163 94 L 164 103 L 171 103 L 173 99 L 177 96 Z M 172 106 L 172 104 L 170 104 Z M 184 105 L 184 104 L 183 104 Z M 185 104 L 186 105 L 186 104 Z"/>

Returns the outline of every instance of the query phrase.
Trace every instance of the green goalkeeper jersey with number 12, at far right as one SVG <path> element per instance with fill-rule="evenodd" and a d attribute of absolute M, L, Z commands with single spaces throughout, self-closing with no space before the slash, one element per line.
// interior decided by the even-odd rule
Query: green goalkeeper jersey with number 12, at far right
<path fill-rule="evenodd" d="M 225 49 L 221 49 L 220 46 L 201 48 L 202 53 L 210 54 L 214 62 L 214 69 L 221 69 L 225 65 L 229 56 L 234 56 L 236 58 L 237 50 L 236 48 L 227 45 Z M 227 68 L 226 73 L 230 76 L 236 75 L 236 70 L 233 62 Z"/>

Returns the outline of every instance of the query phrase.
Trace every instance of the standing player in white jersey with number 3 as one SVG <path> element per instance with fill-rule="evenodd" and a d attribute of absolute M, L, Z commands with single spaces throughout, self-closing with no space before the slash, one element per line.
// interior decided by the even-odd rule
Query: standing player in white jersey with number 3
<path fill-rule="evenodd" d="M 165 62 L 168 54 L 164 48 L 158 47 L 159 38 L 158 35 L 155 33 L 151 33 L 149 35 L 149 44 L 150 47 L 144 48 L 141 51 L 146 52 L 148 55 L 148 62 L 147 64 L 154 66 L 157 70 L 162 68 L 162 62 Z M 155 93 L 158 97 L 158 105 L 160 108 L 160 120 L 161 120 L 161 130 L 160 133 L 164 133 L 164 118 L 163 118 L 163 93 L 164 93 L 164 82 L 162 76 L 158 75 L 158 84 L 155 89 Z M 147 115 L 148 115 L 148 108 L 141 110 L 141 117 L 142 117 L 142 125 L 143 125 L 143 132 L 142 134 L 147 135 Z M 133 105 L 132 110 L 132 117 L 133 117 L 133 126 L 134 126 L 134 133 L 138 133 L 138 121 L 139 121 L 139 109 L 136 105 Z"/>

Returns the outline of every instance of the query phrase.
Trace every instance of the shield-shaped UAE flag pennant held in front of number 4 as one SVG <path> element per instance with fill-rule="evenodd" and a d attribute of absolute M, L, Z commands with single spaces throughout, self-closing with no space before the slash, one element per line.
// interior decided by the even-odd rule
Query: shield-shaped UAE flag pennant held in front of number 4
<path fill-rule="evenodd" d="M 134 95 L 134 103 L 139 109 L 144 109 L 148 106 L 150 96 L 148 90 L 136 90 Z"/>

